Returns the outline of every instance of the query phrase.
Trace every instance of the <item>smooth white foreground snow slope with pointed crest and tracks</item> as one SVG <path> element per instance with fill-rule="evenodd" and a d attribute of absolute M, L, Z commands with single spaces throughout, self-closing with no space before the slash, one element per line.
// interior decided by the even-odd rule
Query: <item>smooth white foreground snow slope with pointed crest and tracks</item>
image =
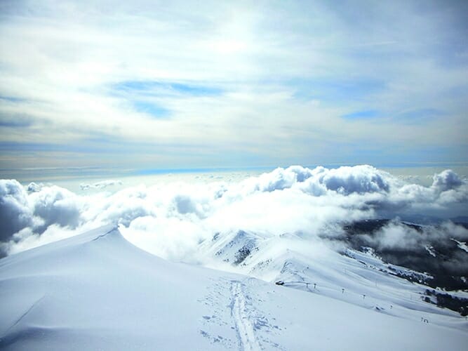
<path fill-rule="evenodd" d="M 417 312 L 426 323 L 404 317 L 403 307 L 363 307 L 170 263 L 112 226 L 0 260 L 4 350 L 464 350 L 468 343 L 460 317 Z"/>

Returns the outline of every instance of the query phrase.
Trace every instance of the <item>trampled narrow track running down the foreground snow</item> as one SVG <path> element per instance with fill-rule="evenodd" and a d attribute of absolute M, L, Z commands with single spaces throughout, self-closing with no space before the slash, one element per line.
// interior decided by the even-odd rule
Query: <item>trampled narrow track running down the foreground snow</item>
<path fill-rule="evenodd" d="M 250 320 L 250 310 L 246 303 L 244 286 L 241 282 L 231 282 L 231 315 L 236 324 L 237 336 L 239 338 L 240 350 L 258 351 L 262 350 L 260 343 L 255 337 L 255 329 Z"/>

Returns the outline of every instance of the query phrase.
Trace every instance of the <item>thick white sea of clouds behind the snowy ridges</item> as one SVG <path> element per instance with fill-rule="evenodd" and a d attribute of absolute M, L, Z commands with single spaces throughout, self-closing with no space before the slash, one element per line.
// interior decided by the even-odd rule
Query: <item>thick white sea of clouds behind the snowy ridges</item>
<path fill-rule="evenodd" d="M 90 186 L 111 183 L 120 184 Z M 0 248 L 5 256 L 114 223 L 142 249 L 190 261 L 199 260 L 199 244 L 216 232 L 300 233 L 326 240 L 354 220 L 447 219 L 466 216 L 467 205 L 467 181 L 453 171 L 435 174 L 432 185 L 423 186 L 367 165 L 290 166 L 238 183 L 173 182 L 93 194 L 0 180 Z M 407 248 L 436 235 L 468 240 L 468 231 L 450 222 L 427 233 L 390 223 L 377 245 Z"/>

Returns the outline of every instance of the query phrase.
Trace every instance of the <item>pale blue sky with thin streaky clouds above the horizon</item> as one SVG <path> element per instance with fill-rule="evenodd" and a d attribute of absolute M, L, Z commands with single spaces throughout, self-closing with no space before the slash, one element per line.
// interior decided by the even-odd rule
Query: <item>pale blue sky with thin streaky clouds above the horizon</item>
<path fill-rule="evenodd" d="M 0 1 L 0 169 L 467 164 L 466 1 Z"/>

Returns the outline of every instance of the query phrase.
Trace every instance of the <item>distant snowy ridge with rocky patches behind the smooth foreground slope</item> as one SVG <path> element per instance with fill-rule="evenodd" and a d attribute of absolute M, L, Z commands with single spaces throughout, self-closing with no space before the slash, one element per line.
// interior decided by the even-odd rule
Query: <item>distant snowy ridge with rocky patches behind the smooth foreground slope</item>
<path fill-rule="evenodd" d="M 427 319 L 441 326 L 466 329 L 460 324 L 464 321 L 460 313 L 438 307 L 434 297 L 442 293 L 466 301 L 466 291 L 443 291 L 420 284 L 428 274 L 384 263 L 371 249 L 363 252 L 347 248 L 340 252 L 330 245 L 299 234 L 268 237 L 239 230 L 215 234 L 201 244 L 201 251 L 212 255 L 218 264 L 222 260 L 236 272 L 267 282 L 281 282 L 282 286 L 404 319 Z"/>

